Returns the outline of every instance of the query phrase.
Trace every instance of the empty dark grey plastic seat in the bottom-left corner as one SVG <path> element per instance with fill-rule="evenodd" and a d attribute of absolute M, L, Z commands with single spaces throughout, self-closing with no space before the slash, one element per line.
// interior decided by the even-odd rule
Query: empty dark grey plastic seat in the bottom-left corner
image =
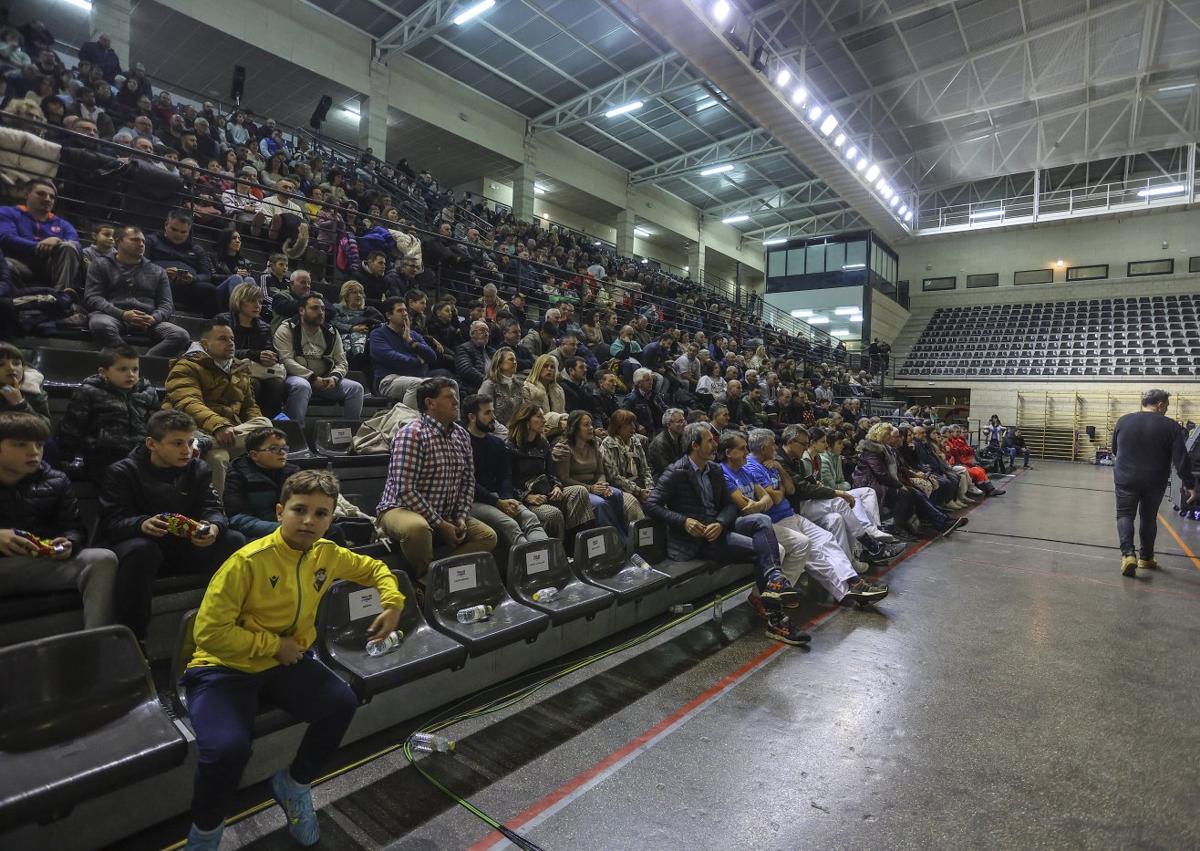
<path fill-rule="evenodd" d="M 186 756 L 127 628 L 0 649 L 0 831 L 59 817 Z"/>

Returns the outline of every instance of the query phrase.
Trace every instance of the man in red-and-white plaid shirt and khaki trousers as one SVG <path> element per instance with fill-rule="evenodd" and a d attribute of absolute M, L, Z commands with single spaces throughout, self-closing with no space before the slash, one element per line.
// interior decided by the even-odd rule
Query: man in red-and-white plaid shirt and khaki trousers
<path fill-rule="evenodd" d="M 391 442 L 388 484 L 379 501 L 379 528 L 400 545 L 419 582 L 433 561 L 434 535 L 448 556 L 491 552 L 496 532 L 472 517 L 475 467 L 470 437 L 458 425 L 458 394 L 449 378 L 430 378 L 416 390 L 421 418 Z"/>

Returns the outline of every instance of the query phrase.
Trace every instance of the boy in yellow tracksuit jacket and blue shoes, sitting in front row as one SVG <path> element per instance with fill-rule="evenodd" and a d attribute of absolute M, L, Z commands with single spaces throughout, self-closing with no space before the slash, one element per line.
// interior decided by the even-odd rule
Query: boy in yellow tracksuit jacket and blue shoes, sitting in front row
<path fill-rule="evenodd" d="M 292 767 L 271 778 L 271 792 L 301 845 L 319 839 L 310 784 L 337 750 L 358 700 L 310 649 L 317 606 L 340 579 L 374 586 L 383 607 L 371 624 L 377 640 L 396 629 L 404 605 L 388 565 L 323 540 L 337 493 L 332 473 L 289 477 L 275 508 L 280 528 L 230 556 L 204 592 L 196 654 L 180 681 L 199 755 L 188 851 L 216 851 L 221 844 L 260 696 L 308 723 Z"/>

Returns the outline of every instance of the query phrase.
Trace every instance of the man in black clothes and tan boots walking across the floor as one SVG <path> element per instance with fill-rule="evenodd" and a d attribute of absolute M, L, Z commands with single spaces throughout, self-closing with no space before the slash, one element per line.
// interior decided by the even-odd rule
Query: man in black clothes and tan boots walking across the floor
<path fill-rule="evenodd" d="M 1170 400 L 1171 394 L 1165 390 L 1147 390 L 1141 397 L 1141 410 L 1126 414 L 1112 429 L 1112 454 L 1116 456 L 1112 479 L 1117 496 L 1122 576 L 1136 576 L 1138 568 L 1153 570 L 1158 567 L 1154 562 L 1158 508 L 1163 504 L 1172 463 L 1187 490 L 1188 502 L 1195 499 L 1187 435 L 1178 422 L 1165 415 Z M 1133 520 L 1139 511 L 1141 558 L 1138 558 L 1133 546 Z"/>

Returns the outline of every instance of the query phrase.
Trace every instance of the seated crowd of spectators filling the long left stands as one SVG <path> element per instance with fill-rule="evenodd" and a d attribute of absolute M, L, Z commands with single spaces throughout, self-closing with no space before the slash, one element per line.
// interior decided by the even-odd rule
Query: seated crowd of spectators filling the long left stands
<path fill-rule="evenodd" d="M 144 639 L 161 571 L 212 573 L 278 526 L 295 467 L 277 420 L 302 426 L 314 402 L 352 420 L 397 403 L 383 497 L 360 508 L 419 583 L 440 555 L 596 525 L 624 539 L 649 516 L 674 558 L 752 561 L 768 635 L 790 643 L 808 640 L 782 611 L 802 573 L 877 601 L 870 565 L 1003 492 L 961 429 L 870 415 L 878 385 L 840 343 L 456 200 L 404 160 L 178 102 L 98 42 L 74 68 L 40 25 L 0 42 L 0 336 L 103 349 L 52 424 L 0 344 L 4 516 L 65 545 L 35 581 L 14 569 L 35 545 L 0 529 L 0 593 L 78 587 L 89 624 Z M 172 359 L 162 390 L 139 349 Z M 101 486 L 96 549 L 64 471 Z"/>

